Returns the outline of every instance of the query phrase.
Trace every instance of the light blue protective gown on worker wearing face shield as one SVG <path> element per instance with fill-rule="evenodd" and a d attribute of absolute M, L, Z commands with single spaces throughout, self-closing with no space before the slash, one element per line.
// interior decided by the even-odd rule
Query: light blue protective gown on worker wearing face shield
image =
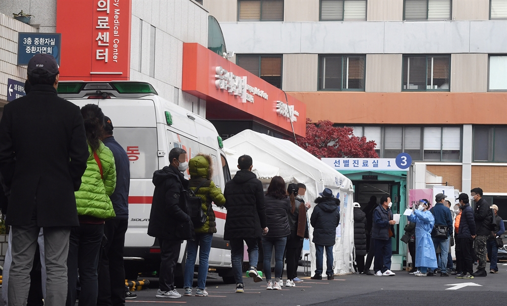
<path fill-rule="evenodd" d="M 415 222 L 415 265 L 417 267 L 437 268 L 437 254 L 431 240 L 431 230 L 435 218 L 430 211 L 414 211 L 408 216 L 410 222 Z"/>

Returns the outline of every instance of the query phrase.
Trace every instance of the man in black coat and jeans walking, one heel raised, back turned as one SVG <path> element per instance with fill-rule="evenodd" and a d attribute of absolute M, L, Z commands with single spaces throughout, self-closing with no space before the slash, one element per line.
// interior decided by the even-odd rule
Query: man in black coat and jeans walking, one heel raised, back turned
<path fill-rule="evenodd" d="M 254 282 L 261 282 L 262 277 L 257 273 L 259 247 L 257 239 L 261 234 L 268 233 L 266 223 L 266 209 L 264 206 L 264 191 L 262 183 L 251 172 L 252 158 L 248 155 L 240 156 L 238 169 L 232 180 L 227 182 L 224 189 L 225 221 L 224 240 L 231 244 L 231 262 L 236 279 L 236 292 L 244 292 L 243 283 L 243 241 L 248 246 L 248 261 L 250 269 L 248 275 Z M 262 230 L 262 231 L 261 231 Z"/>

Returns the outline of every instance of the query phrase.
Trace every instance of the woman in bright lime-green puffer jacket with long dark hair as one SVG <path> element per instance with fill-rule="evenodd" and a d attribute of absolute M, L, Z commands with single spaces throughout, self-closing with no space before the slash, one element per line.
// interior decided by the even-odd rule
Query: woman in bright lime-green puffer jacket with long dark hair
<path fill-rule="evenodd" d="M 75 192 L 79 227 L 70 230 L 66 306 L 76 303 L 76 284 L 81 285 L 80 306 L 96 306 L 98 295 L 98 261 L 104 235 L 104 221 L 114 218 L 115 211 L 109 196 L 116 187 L 116 168 L 113 153 L 100 141 L 104 114 L 94 104 L 81 109 L 90 156 L 82 183 Z"/>

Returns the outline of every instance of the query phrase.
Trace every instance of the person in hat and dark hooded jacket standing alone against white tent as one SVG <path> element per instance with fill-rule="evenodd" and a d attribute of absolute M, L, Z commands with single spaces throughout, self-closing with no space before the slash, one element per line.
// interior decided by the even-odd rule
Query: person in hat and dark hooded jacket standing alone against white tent
<path fill-rule="evenodd" d="M 336 241 L 336 227 L 340 223 L 340 200 L 336 199 L 329 188 L 319 193 L 321 197 L 315 199 L 317 206 L 313 209 L 310 224 L 313 226 L 313 239 L 315 244 L 315 275 L 312 280 L 322 279 L 322 256 L 326 255 L 327 269 L 325 274 L 328 280 L 333 280 L 333 246 Z"/>

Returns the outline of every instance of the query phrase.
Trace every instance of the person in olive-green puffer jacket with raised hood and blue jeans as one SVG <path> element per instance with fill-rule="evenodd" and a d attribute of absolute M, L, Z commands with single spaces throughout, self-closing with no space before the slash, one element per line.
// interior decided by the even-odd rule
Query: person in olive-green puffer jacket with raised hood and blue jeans
<path fill-rule="evenodd" d="M 207 296 L 206 276 L 208 275 L 208 258 L 211 250 L 211 240 L 216 232 L 215 213 L 211 202 L 216 206 L 224 206 L 225 197 L 220 188 L 211 181 L 213 176 L 213 160 L 211 156 L 197 154 L 189 161 L 189 188 L 202 199 L 202 210 L 206 214 L 206 222 L 195 229 L 195 240 L 187 241 L 187 262 L 185 263 L 184 288 L 185 295 L 192 295 L 192 282 L 194 280 L 194 266 L 199 248 L 199 274 L 197 276 L 196 296 Z M 199 190 L 196 188 L 201 185 Z"/>

